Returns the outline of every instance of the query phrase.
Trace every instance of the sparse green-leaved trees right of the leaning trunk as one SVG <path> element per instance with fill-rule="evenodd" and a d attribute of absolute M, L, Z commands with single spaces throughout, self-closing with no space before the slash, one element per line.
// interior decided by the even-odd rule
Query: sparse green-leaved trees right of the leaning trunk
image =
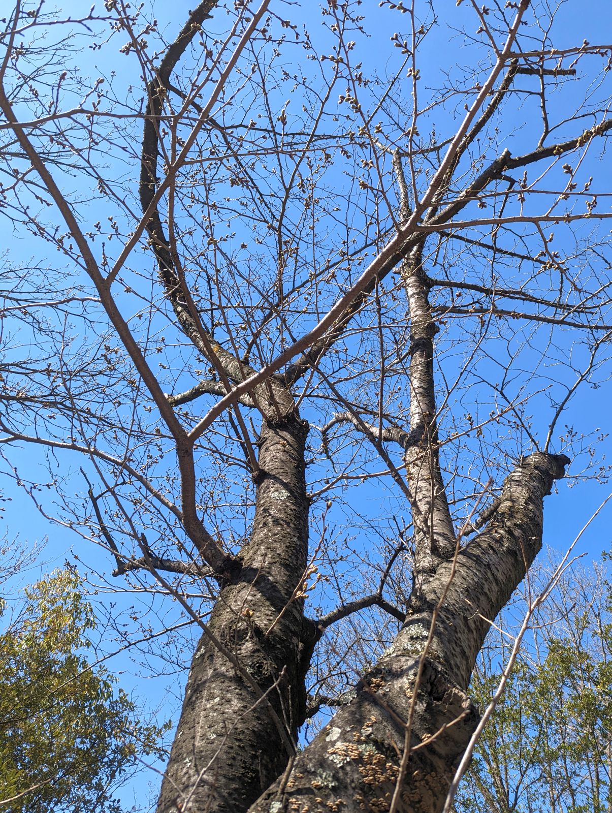
<path fill-rule="evenodd" d="M 560 585 L 475 750 L 456 813 L 609 813 L 612 628 L 601 572 Z M 484 708 L 510 643 L 493 633 L 471 684 Z"/>

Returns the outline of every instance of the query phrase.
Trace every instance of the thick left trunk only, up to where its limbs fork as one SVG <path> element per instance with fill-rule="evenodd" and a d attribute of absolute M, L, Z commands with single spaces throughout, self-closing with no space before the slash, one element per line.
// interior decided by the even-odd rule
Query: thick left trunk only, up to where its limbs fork
<path fill-rule="evenodd" d="M 304 619 L 302 600 L 293 598 L 308 550 L 307 431 L 295 416 L 280 426 L 264 424 L 250 541 L 208 624 L 259 687 L 270 689 L 267 700 L 292 742 L 306 711 L 304 675 L 315 634 Z M 277 722 L 267 702 L 258 701 L 224 654 L 202 636 L 158 813 L 176 811 L 176 803 L 184 813 L 245 810 L 289 760 Z"/>

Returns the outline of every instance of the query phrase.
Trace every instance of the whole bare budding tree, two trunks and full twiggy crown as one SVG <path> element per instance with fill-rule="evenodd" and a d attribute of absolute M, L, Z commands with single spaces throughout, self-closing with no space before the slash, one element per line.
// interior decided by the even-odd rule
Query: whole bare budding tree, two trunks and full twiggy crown
<path fill-rule="evenodd" d="M 606 472 L 571 400 L 607 375 L 610 46 L 563 41 L 576 8 L 202 0 L 167 41 L 147 3 L 15 5 L 2 212 L 64 267 L 7 260 L 1 440 L 202 629 L 159 813 L 444 806 L 543 498 L 567 454 Z"/>

